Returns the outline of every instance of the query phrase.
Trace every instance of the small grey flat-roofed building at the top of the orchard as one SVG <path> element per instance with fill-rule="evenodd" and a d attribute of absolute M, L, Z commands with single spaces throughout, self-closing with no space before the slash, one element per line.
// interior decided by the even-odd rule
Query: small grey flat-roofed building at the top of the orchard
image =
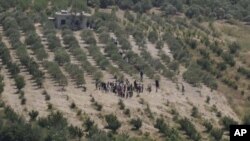
<path fill-rule="evenodd" d="M 88 18 L 91 15 L 85 12 L 69 12 L 61 10 L 55 13 L 55 17 L 50 18 L 55 23 L 56 28 L 69 27 L 73 30 L 84 29 L 88 27 Z"/>

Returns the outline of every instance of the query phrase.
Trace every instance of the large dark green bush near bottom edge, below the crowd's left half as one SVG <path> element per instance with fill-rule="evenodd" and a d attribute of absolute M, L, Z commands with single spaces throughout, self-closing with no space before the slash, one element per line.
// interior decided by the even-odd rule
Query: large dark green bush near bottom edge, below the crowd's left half
<path fill-rule="evenodd" d="M 106 115 L 105 120 L 108 123 L 107 128 L 111 129 L 113 132 L 116 132 L 116 130 L 121 127 L 120 121 L 113 114 Z"/>

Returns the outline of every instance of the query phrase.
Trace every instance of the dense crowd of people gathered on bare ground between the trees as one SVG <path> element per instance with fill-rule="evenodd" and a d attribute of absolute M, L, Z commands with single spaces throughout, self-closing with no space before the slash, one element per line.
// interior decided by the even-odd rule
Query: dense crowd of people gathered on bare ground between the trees
<path fill-rule="evenodd" d="M 142 82 L 138 82 L 134 80 L 132 83 L 126 79 L 125 81 L 122 80 L 115 80 L 112 82 L 102 82 L 96 81 L 95 82 L 96 90 L 103 91 L 105 93 L 112 92 L 119 97 L 122 98 L 130 98 L 133 97 L 134 93 L 143 93 L 144 89 L 146 89 L 149 93 L 152 91 L 151 84 L 148 84 L 147 88 L 144 88 L 144 84 Z M 156 80 L 155 82 L 156 92 L 159 89 L 159 81 Z"/>

